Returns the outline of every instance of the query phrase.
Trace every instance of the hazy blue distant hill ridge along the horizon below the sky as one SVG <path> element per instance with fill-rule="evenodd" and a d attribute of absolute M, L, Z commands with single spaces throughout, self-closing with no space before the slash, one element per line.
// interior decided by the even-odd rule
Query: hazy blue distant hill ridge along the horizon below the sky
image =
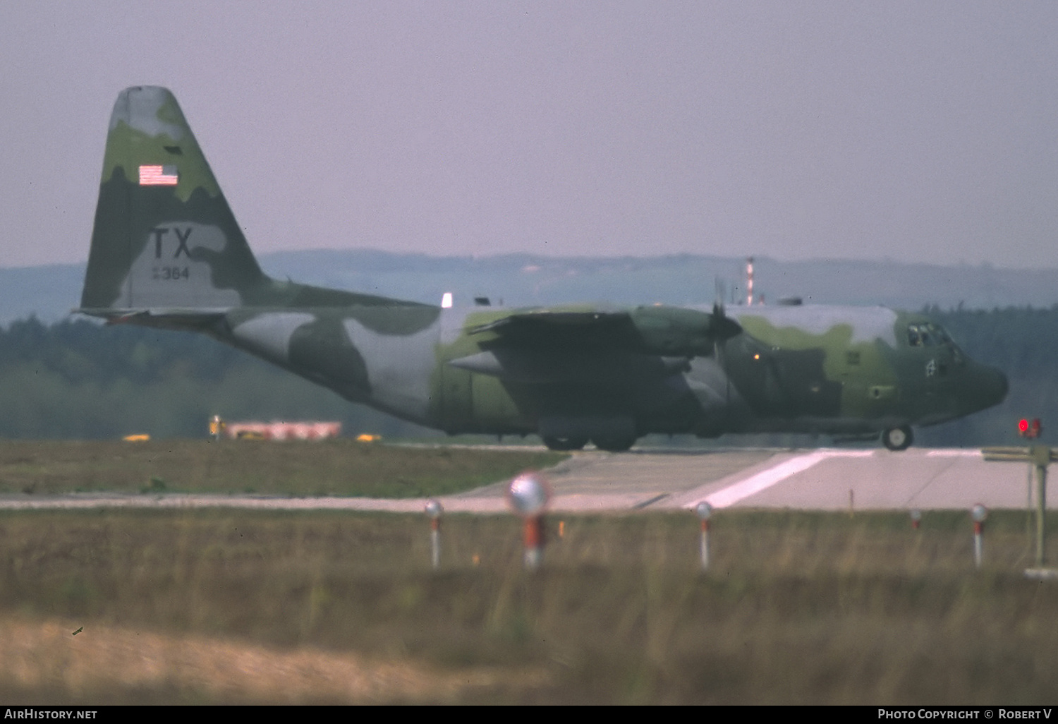
<path fill-rule="evenodd" d="M 426 256 L 370 249 L 263 254 L 275 278 L 438 304 L 474 296 L 507 306 L 610 302 L 711 305 L 717 287 L 732 304 L 745 298 L 743 258 L 683 254 L 649 257 Z M 920 309 L 940 305 L 992 309 L 1058 303 L 1058 269 L 1015 270 L 897 261 L 758 258 L 755 290 L 774 301 L 801 296 L 815 304 L 882 305 Z M 0 268 L 0 324 L 36 314 L 63 319 L 80 301 L 84 265 Z"/>

